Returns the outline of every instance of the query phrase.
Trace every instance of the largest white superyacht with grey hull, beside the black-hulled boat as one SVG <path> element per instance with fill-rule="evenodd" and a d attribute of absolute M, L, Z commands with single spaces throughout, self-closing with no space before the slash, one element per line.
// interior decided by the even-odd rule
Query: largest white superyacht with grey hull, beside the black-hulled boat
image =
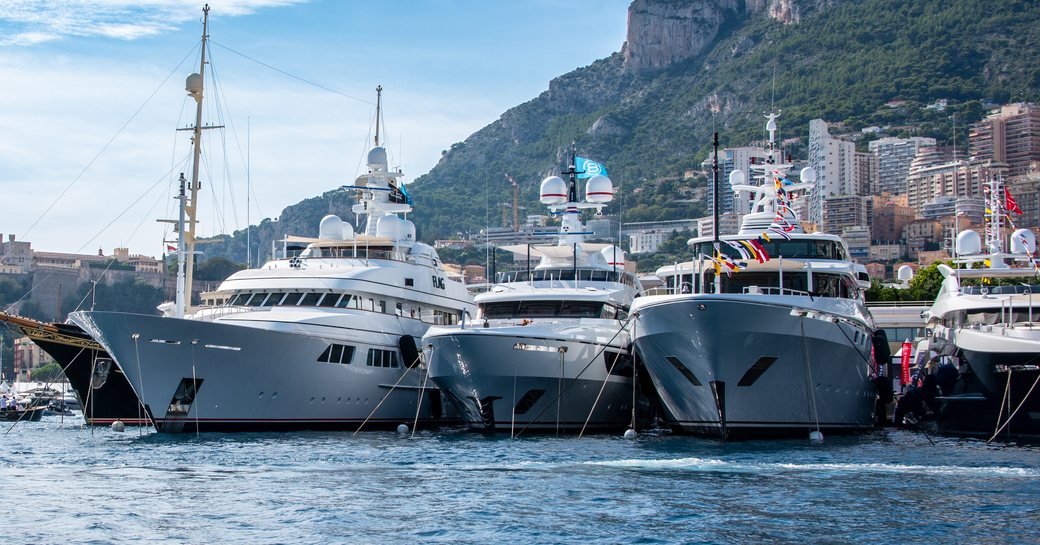
<path fill-rule="evenodd" d="M 160 432 L 367 430 L 452 416 L 417 342 L 475 307 L 398 215 L 410 199 L 378 125 L 375 134 L 368 174 L 345 186 L 358 196 L 354 212 L 367 215 L 364 232 L 326 216 L 302 254 L 232 275 L 219 288 L 232 293 L 226 305 L 186 318 L 72 315 Z"/>

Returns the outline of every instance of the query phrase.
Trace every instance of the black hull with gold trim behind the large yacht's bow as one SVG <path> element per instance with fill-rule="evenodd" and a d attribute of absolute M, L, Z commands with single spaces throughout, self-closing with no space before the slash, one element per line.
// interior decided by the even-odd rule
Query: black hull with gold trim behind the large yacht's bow
<path fill-rule="evenodd" d="M 33 330 L 29 337 L 64 370 L 70 386 L 83 403 L 86 423 L 109 425 L 119 420 L 126 425 L 150 424 L 137 394 L 111 357 L 98 349 L 79 328 L 55 326 L 60 335 L 44 336 Z"/>

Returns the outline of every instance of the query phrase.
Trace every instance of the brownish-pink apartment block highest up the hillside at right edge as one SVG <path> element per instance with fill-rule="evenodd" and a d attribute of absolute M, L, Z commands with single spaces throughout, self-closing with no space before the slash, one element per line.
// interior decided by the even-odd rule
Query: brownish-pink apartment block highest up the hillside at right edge
<path fill-rule="evenodd" d="M 1024 176 L 1040 161 L 1040 108 L 1008 104 L 971 126 L 971 158 L 1008 163 L 1008 176 Z"/>

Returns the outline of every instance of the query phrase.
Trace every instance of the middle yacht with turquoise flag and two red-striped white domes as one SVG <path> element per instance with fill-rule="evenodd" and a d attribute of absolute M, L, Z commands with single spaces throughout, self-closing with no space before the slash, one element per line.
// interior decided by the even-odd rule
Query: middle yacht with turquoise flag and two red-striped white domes
<path fill-rule="evenodd" d="M 641 289 L 620 249 L 586 241 L 581 209 L 613 200 L 610 180 L 591 177 L 578 202 L 573 160 L 568 174 L 569 183 L 550 176 L 541 185 L 542 203 L 562 212 L 558 243 L 509 246 L 527 268 L 499 274 L 476 296 L 475 320 L 423 337 L 431 378 L 471 429 L 516 435 L 631 425 L 626 326 Z M 535 267 L 531 257 L 540 259 Z"/>

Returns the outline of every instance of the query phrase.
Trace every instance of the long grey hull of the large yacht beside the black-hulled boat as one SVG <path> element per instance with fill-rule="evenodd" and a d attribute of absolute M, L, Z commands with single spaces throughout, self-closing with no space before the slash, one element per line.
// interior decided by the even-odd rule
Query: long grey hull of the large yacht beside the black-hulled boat
<path fill-rule="evenodd" d="M 367 330 L 291 323 L 292 331 L 277 331 L 115 312 L 76 313 L 73 319 L 115 359 L 160 432 L 451 422 L 419 368 L 409 368 L 402 357 L 393 364 L 384 360 L 386 366 L 366 358 L 370 349 L 396 354 L 399 320 L 396 328 L 369 319 Z M 352 346 L 353 358 L 320 361 L 332 345 Z"/>

